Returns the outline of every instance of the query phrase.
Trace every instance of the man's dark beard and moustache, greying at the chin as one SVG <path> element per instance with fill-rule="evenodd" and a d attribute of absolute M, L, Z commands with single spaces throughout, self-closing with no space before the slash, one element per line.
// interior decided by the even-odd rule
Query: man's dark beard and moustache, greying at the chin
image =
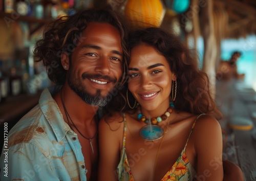
<path fill-rule="evenodd" d="M 87 88 L 82 85 L 82 81 L 86 78 L 93 78 L 93 79 L 105 79 L 112 81 L 114 84 L 117 82 L 116 79 L 112 79 L 109 76 L 102 76 L 102 75 L 90 75 L 90 74 L 82 74 L 82 79 L 81 78 L 76 78 L 74 75 L 75 72 L 72 72 L 72 70 L 69 70 L 67 72 L 67 79 L 68 79 L 68 84 L 70 88 L 87 104 L 90 104 L 92 106 L 98 106 L 98 107 L 104 107 L 109 101 L 112 99 L 112 90 L 110 90 L 109 94 L 106 96 L 101 96 L 101 90 L 97 89 L 96 94 L 92 95 L 87 91 Z"/>

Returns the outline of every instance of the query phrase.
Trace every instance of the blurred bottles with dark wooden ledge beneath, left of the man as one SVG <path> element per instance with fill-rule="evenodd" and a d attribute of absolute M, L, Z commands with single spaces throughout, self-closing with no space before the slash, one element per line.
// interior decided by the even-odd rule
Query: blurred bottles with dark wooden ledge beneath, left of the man
<path fill-rule="evenodd" d="M 8 61 L 0 59 L 0 120 L 4 122 L 25 115 L 38 104 L 42 90 L 52 85 L 47 73 L 42 71 L 43 66 L 36 65 L 31 73 L 28 59 L 20 54 L 18 57 Z"/>

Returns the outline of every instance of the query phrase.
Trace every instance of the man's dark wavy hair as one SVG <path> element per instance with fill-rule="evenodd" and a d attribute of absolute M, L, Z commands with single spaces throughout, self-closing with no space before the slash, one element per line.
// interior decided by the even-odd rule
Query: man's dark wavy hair
<path fill-rule="evenodd" d="M 127 50 L 128 28 L 123 16 L 108 8 L 79 10 L 74 15 L 52 21 L 44 30 L 43 38 L 36 42 L 34 50 L 36 61 L 44 62 L 48 76 L 54 83 L 65 83 L 67 71 L 61 66 L 61 53 L 68 53 L 71 60 L 72 52 L 79 41 L 82 41 L 81 34 L 89 22 L 107 23 L 119 30 L 123 50 L 122 71 L 127 70 L 127 60 L 129 59 Z M 120 79 L 120 82 L 125 82 L 124 77 Z"/>

